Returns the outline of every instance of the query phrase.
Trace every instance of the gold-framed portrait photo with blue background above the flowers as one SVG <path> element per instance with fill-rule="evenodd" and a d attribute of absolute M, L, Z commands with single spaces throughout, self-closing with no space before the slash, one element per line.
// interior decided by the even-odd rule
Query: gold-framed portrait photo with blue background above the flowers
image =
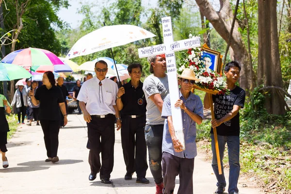
<path fill-rule="evenodd" d="M 203 61 L 203 65 L 206 70 L 211 69 L 216 71 L 217 73 L 221 73 L 221 65 L 220 65 L 220 52 L 209 49 L 202 46 L 202 57 L 200 60 Z"/>

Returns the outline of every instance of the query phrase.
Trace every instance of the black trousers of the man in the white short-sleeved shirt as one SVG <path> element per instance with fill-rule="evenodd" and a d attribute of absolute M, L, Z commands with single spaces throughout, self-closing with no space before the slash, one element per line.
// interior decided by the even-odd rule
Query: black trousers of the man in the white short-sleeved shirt
<path fill-rule="evenodd" d="M 100 172 L 100 179 L 110 178 L 114 163 L 114 118 L 113 114 L 108 114 L 105 118 L 91 115 L 91 122 L 88 127 L 89 164 L 91 173 L 96 175 Z M 100 162 L 100 152 L 101 160 Z"/>

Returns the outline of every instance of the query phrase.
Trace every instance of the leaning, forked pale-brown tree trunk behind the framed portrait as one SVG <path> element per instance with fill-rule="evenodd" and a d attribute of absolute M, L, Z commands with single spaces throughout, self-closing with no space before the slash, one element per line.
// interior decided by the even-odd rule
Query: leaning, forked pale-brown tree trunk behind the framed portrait
<path fill-rule="evenodd" d="M 219 35 L 228 43 L 228 36 L 231 29 L 231 22 L 233 20 L 233 13 L 229 0 L 220 0 L 220 10 L 216 12 L 209 0 L 195 0 L 200 8 L 200 11 L 210 21 L 214 29 Z M 251 79 L 249 78 L 248 54 L 242 42 L 242 35 L 239 32 L 239 24 L 235 22 L 233 29 L 230 47 L 234 53 L 234 60 L 237 60 L 242 65 L 240 86 L 244 90 L 248 90 Z M 247 91 L 246 91 L 247 92 Z"/>

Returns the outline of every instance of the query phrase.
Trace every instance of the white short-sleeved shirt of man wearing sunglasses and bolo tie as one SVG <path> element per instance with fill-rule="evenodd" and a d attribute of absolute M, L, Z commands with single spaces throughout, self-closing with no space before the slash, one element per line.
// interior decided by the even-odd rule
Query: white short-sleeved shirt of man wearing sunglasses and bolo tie
<path fill-rule="evenodd" d="M 86 104 L 86 109 L 90 115 L 115 114 L 113 105 L 116 105 L 118 92 L 117 84 L 105 78 L 101 81 L 94 77 L 82 84 L 77 99 Z"/>

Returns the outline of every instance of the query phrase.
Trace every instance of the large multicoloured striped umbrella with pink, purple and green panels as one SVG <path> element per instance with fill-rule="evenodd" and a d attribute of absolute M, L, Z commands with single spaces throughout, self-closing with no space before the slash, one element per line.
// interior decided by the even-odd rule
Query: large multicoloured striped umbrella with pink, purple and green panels
<path fill-rule="evenodd" d="M 4 57 L 2 62 L 20 65 L 27 69 L 32 66 L 41 65 L 64 65 L 64 63 L 49 50 L 36 48 L 16 50 Z"/>

